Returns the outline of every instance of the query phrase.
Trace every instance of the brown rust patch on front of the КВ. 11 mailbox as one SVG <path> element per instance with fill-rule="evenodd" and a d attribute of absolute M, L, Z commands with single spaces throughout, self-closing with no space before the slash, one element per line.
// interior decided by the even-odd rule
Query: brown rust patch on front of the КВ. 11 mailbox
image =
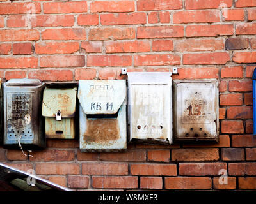
<path fill-rule="evenodd" d="M 88 119 L 87 129 L 84 133 L 84 142 L 109 143 L 120 138 L 117 119 Z"/>

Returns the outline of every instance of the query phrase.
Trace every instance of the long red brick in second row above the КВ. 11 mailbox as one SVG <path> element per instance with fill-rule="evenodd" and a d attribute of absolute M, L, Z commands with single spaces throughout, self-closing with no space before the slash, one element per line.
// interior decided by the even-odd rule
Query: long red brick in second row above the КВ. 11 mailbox
<path fill-rule="evenodd" d="M 131 66 L 132 57 L 127 55 L 88 55 L 87 66 Z"/>

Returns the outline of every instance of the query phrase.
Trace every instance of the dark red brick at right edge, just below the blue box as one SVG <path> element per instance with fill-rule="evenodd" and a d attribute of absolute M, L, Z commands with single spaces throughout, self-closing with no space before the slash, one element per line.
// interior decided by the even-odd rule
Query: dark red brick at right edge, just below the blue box
<path fill-rule="evenodd" d="M 232 135 L 232 147 L 256 147 L 256 138 L 253 135 Z"/>

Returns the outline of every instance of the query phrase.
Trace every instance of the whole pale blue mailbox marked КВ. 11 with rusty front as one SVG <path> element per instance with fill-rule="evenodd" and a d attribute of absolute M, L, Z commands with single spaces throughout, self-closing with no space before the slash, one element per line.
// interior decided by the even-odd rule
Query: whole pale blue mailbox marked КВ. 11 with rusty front
<path fill-rule="evenodd" d="M 118 152 L 127 148 L 125 80 L 80 80 L 81 152 Z"/>

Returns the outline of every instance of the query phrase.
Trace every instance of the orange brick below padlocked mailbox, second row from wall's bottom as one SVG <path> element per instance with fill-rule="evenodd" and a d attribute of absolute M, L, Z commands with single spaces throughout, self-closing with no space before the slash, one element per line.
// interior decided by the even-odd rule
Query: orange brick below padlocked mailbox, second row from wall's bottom
<path fill-rule="evenodd" d="M 77 175 L 79 164 L 74 163 L 36 163 L 36 174 L 42 175 Z"/>

